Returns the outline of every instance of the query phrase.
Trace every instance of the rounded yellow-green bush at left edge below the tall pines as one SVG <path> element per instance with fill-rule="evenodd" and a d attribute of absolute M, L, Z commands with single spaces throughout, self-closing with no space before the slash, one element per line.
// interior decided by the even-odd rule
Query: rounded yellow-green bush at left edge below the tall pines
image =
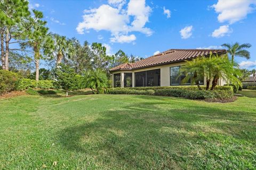
<path fill-rule="evenodd" d="M 15 84 L 20 79 L 17 73 L 0 70 L 0 95 L 15 90 Z"/>

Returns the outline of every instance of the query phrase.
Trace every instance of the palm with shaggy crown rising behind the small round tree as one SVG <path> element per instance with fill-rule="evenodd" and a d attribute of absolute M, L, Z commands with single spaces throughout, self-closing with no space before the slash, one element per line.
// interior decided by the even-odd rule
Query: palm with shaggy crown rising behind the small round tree
<path fill-rule="evenodd" d="M 56 65 L 61 63 L 63 57 L 70 57 L 74 53 L 73 45 L 67 40 L 65 36 L 54 34 L 53 36 L 53 49 L 49 56 L 56 58 Z"/>

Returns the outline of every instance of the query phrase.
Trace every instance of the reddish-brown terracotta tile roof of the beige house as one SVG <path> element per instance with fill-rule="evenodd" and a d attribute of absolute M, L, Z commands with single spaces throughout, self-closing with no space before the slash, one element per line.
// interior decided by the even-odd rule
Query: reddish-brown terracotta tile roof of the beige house
<path fill-rule="evenodd" d="M 146 67 L 153 67 L 157 65 L 165 65 L 171 63 L 178 63 L 185 60 L 191 60 L 197 56 L 209 55 L 210 52 L 213 54 L 225 54 L 225 49 L 169 49 L 165 52 L 153 55 L 151 57 L 145 58 L 141 61 L 135 63 L 124 63 L 118 65 L 112 69 L 110 72 L 120 71 L 120 70 L 137 70 Z"/>

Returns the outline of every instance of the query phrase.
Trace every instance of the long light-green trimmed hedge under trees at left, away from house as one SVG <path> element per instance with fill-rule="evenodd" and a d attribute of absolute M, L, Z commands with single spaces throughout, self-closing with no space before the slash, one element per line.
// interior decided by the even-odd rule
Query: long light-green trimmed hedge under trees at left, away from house
<path fill-rule="evenodd" d="M 54 81 L 52 80 L 32 80 L 32 79 L 21 79 L 17 81 L 16 90 L 25 90 L 28 88 L 39 88 L 39 89 L 53 89 Z"/>

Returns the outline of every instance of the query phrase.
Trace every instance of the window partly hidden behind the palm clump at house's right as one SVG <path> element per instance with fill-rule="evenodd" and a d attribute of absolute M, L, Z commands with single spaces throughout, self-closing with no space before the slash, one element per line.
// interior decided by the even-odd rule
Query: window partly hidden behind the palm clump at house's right
<path fill-rule="evenodd" d="M 186 77 L 185 75 L 179 76 L 180 66 L 170 67 L 170 84 L 171 86 L 178 86 L 178 85 L 190 85 L 191 81 L 188 80 L 186 83 L 182 83 L 182 80 Z M 199 81 L 199 84 L 204 84 L 204 79 Z"/>

